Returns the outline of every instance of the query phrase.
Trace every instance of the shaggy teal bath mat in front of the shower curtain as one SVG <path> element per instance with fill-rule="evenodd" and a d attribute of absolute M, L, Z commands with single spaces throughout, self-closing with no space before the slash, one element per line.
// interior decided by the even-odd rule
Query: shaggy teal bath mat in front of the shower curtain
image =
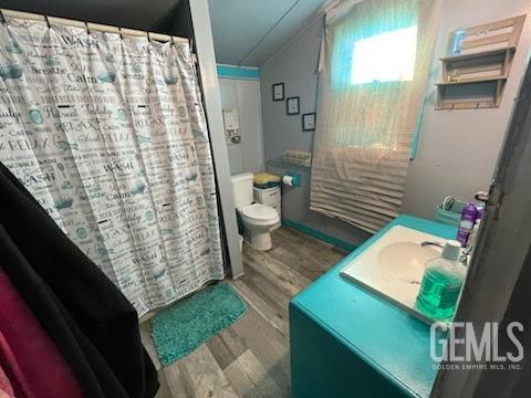
<path fill-rule="evenodd" d="M 226 282 L 205 287 L 152 320 L 152 337 L 163 366 L 190 354 L 243 315 L 247 305 Z"/>

